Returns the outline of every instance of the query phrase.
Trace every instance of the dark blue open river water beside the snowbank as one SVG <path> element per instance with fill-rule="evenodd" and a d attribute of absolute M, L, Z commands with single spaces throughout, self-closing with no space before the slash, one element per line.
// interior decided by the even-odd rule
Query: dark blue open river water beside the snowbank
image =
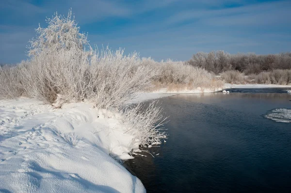
<path fill-rule="evenodd" d="M 291 94 L 230 91 L 161 100 L 167 142 L 127 162 L 148 193 L 291 192 L 291 123 L 262 116 Z"/>

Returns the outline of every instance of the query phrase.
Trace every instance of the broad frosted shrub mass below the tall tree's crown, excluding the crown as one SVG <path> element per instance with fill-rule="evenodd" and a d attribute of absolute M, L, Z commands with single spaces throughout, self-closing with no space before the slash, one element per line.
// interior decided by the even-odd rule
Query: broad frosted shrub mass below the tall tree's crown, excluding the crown
<path fill-rule="evenodd" d="M 78 49 L 41 53 L 21 72 L 25 95 L 54 103 L 89 100 L 99 108 L 118 107 L 148 87 L 154 69 L 140 65 L 138 55 L 107 49 L 90 59 Z"/>

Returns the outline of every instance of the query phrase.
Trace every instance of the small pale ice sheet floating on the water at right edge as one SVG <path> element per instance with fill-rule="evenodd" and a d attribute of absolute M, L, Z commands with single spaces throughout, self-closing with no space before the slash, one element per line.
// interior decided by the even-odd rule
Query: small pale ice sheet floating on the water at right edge
<path fill-rule="evenodd" d="M 291 109 L 275 108 L 267 112 L 264 117 L 276 122 L 291 123 Z"/>

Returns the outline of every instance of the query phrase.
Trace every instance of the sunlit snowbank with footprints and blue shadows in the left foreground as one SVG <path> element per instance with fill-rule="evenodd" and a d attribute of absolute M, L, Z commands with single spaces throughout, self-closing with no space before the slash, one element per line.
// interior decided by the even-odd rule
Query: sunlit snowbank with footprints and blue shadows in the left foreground
<path fill-rule="evenodd" d="M 132 158 L 125 129 L 118 113 L 93 104 L 0 101 L 0 191 L 146 192 L 116 161 Z"/>

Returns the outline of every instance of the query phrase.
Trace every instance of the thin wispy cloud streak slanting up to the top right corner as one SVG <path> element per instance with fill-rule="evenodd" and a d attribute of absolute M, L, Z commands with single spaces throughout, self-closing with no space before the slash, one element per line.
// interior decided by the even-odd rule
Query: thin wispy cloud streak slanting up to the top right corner
<path fill-rule="evenodd" d="M 223 9 L 204 9 L 182 11 L 169 17 L 167 24 L 176 24 L 185 21 L 203 21 L 210 25 L 245 25 L 245 24 L 274 24 L 288 22 L 291 17 L 290 1 L 266 2 L 253 5 Z"/>

